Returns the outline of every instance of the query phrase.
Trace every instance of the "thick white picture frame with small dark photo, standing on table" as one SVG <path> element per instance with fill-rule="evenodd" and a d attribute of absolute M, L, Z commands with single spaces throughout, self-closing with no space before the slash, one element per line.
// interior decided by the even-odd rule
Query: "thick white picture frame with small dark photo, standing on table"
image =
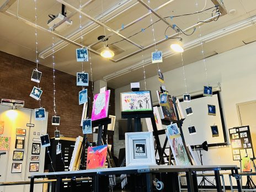
<path fill-rule="evenodd" d="M 152 132 L 125 133 L 126 166 L 155 166 Z"/>

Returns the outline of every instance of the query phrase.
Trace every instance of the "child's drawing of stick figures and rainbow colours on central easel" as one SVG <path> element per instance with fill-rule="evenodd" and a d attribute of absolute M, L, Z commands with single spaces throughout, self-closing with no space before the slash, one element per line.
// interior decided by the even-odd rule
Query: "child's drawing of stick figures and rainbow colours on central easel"
<path fill-rule="evenodd" d="M 150 90 L 121 93 L 121 111 L 152 111 Z"/>

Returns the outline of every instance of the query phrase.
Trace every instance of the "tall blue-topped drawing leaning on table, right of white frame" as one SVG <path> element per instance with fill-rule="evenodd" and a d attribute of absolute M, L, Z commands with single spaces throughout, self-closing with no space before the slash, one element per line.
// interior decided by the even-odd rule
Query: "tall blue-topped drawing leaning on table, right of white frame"
<path fill-rule="evenodd" d="M 170 143 L 170 148 L 173 152 L 175 163 L 177 166 L 190 166 L 191 164 L 188 158 L 188 154 L 186 153 L 184 143 L 182 141 L 182 136 L 175 133 L 169 133 L 168 128 L 166 130 L 166 135 Z"/>

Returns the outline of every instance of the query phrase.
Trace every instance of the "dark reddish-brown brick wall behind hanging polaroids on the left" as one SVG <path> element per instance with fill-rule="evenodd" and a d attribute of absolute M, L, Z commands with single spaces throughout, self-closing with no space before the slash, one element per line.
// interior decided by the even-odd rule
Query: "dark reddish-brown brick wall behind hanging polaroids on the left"
<path fill-rule="evenodd" d="M 39 108 L 39 101 L 29 97 L 30 92 L 37 83 L 31 81 L 31 73 L 36 67 L 34 62 L 16 57 L 0 51 L 0 99 L 25 100 L 25 108 Z M 53 110 L 53 71 L 52 68 L 39 65 L 42 72 L 40 87 L 41 106 L 49 112 L 47 132 L 54 137 L 55 126 L 51 125 Z M 58 129 L 65 137 L 82 136 L 80 125 L 83 105 L 78 105 L 78 92 L 82 90 L 76 86 L 76 77 L 61 71 L 55 71 L 56 110 L 61 116 Z M 92 82 L 89 82 L 88 97 L 92 97 Z M 111 88 L 109 88 L 111 89 Z M 92 104 L 89 105 L 89 114 L 92 112 Z M 111 89 L 110 114 L 115 114 L 115 90 Z M 91 137 L 89 136 L 89 139 Z"/>

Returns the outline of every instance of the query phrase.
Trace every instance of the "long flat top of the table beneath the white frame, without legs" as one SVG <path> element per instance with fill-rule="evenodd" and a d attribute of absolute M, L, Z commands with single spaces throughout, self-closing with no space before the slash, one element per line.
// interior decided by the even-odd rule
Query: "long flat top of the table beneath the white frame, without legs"
<path fill-rule="evenodd" d="M 130 167 L 115 167 L 101 168 L 88 170 L 74 170 L 65 172 L 50 172 L 50 173 L 31 173 L 31 177 L 47 177 L 50 175 L 76 175 L 76 174 L 128 174 L 128 173 L 149 173 L 149 172 L 188 172 L 189 170 L 230 170 L 237 168 L 236 165 L 222 166 L 130 166 Z"/>

